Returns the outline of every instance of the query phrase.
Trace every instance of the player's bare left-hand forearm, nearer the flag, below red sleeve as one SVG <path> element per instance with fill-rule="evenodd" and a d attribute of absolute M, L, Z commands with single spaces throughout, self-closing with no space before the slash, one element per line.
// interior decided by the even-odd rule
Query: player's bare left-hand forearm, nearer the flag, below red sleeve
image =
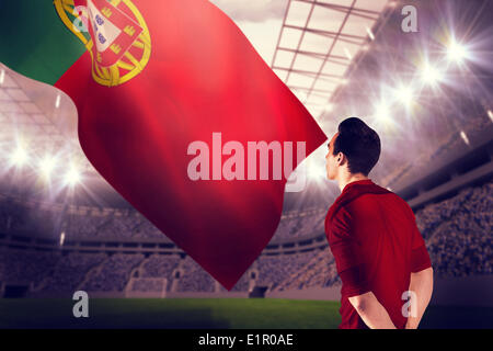
<path fill-rule="evenodd" d="M 371 329 L 397 329 L 387 309 L 379 303 L 372 292 L 349 297 L 349 303 Z"/>

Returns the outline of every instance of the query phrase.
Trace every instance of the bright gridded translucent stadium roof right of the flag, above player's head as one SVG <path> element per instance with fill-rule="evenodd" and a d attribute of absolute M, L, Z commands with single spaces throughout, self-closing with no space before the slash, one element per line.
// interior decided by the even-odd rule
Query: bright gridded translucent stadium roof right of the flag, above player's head
<path fill-rule="evenodd" d="M 271 67 L 318 117 L 375 38 L 388 0 L 289 0 Z"/>

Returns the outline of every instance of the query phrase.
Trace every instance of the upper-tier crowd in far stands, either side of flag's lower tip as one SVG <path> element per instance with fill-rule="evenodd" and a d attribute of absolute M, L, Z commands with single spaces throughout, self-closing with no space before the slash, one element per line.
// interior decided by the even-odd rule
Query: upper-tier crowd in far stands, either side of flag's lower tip
<path fill-rule="evenodd" d="M 280 218 L 273 236 L 277 239 L 291 239 L 323 233 L 326 208 L 311 208 L 303 212 L 288 212 Z M 25 234 L 34 237 L 98 240 L 156 239 L 170 241 L 147 218 L 135 211 L 126 214 L 114 212 L 96 214 L 74 214 L 49 208 L 23 207 L 18 202 L 0 197 L 0 231 Z"/>

